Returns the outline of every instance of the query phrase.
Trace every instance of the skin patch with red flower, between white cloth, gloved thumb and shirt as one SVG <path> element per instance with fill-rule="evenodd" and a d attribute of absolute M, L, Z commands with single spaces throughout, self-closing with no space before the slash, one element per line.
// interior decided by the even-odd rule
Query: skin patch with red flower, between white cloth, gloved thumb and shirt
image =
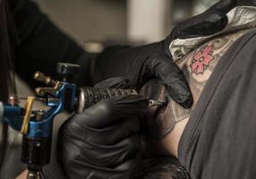
<path fill-rule="evenodd" d="M 195 103 L 226 50 L 247 31 L 241 30 L 214 38 L 177 62 L 189 81 Z"/>

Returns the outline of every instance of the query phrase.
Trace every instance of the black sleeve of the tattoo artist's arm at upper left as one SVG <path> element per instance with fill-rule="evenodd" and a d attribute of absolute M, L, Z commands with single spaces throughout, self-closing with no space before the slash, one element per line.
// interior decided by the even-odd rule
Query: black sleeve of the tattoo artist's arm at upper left
<path fill-rule="evenodd" d="M 76 81 L 90 85 L 90 55 L 59 30 L 37 4 L 30 0 L 10 0 L 15 71 L 34 86 L 35 71 L 54 75 L 58 62 L 81 64 Z M 78 78 L 76 78 L 78 79 Z"/>

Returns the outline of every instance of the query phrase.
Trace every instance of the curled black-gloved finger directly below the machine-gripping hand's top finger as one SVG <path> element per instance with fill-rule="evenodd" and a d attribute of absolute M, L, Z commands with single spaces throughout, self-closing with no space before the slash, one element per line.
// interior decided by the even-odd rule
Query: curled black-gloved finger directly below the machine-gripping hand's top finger
<path fill-rule="evenodd" d="M 76 130 L 73 129 L 73 131 Z M 113 145 L 124 138 L 140 131 L 140 122 L 137 117 L 120 119 L 116 124 L 111 124 L 101 129 L 83 127 L 78 133 L 73 133 L 76 139 L 98 145 Z"/>

